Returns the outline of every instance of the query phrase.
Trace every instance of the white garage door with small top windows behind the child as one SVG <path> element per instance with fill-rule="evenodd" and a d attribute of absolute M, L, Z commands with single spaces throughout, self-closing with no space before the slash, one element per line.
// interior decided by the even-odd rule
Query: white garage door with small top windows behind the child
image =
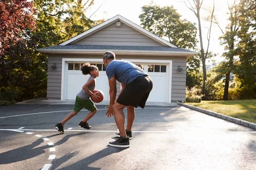
<path fill-rule="evenodd" d="M 83 62 L 85 63 L 85 62 Z M 66 68 L 66 90 L 65 99 L 74 100 L 76 94 L 81 91 L 83 84 L 85 84 L 90 77 L 90 74 L 83 75 L 81 72 L 82 62 L 68 62 Z M 100 89 L 104 92 L 104 101 L 109 101 L 109 81 L 106 76 L 106 68 L 102 62 L 94 62 L 92 65 L 96 65 L 99 68 L 100 76 L 96 78 L 95 89 Z"/>

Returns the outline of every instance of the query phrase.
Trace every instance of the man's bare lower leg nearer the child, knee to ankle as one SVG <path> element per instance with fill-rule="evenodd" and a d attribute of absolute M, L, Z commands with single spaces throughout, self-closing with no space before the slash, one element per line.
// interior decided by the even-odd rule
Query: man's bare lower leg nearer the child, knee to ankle
<path fill-rule="evenodd" d="M 117 128 L 119 129 L 121 137 L 126 137 L 125 114 L 124 114 L 125 107 L 126 106 L 119 104 L 117 102 L 113 105 L 115 122 L 116 122 Z"/>

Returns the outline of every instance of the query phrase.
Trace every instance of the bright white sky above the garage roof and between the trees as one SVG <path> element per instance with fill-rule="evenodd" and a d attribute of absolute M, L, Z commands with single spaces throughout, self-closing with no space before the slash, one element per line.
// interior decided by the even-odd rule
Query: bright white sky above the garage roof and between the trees
<path fill-rule="evenodd" d="M 186 1 L 186 0 L 185 0 Z M 228 0 L 231 4 L 233 1 Z M 140 26 L 140 19 L 139 15 L 141 14 L 141 7 L 144 5 L 149 5 L 152 2 L 152 0 L 95 0 L 93 6 L 88 9 L 86 12 L 86 16 L 90 17 L 92 20 L 97 19 L 110 19 L 117 14 L 120 14 L 122 17 L 125 17 L 129 19 L 130 21 L 138 24 Z M 177 12 L 181 14 L 182 19 L 187 19 L 190 22 L 196 23 L 196 26 L 198 26 L 197 19 L 192 11 L 190 11 L 182 2 L 181 0 L 155 0 L 153 1 L 154 4 L 159 6 L 174 6 L 175 9 L 177 9 Z M 191 0 L 190 0 L 191 2 Z M 213 6 L 213 0 L 204 0 L 203 7 L 209 8 Z M 99 8 L 100 7 L 100 8 Z M 99 8 L 99 9 L 98 9 Z M 98 9 L 98 10 L 97 10 Z M 228 24 L 228 5 L 227 1 L 225 0 L 215 0 L 215 9 L 216 9 L 216 15 L 219 19 L 220 27 L 225 30 L 226 25 Z M 93 14 L 94 13 L 94 14 Z M 207 16 L 206 10 L 201 10 L 201 16 Z M 204 49 L 207 47 L 207 39 L 206 34 L 208 32 L 208 28 L 210 26 L 209 22 L 201 20 L 201 26 L 202 31 L 204 34 L 203 37 L 203 44 Z M 214 24 L 212 31 L 211 31 L 211 39 L 210 39 L 210 47 L 209 51 L 212 51 L 213 53 L 218 53 L 218 56 L 215 57 L 216 62 L 220 62 L 223 60 L 221 58 L 221 54 L 224 52 L 224 47 L 220 46 L 219 37 L 222 35 L 220 28 Z M 198 35 L 199 40 L 199 35 Z M 198 47 L 200 44 L 198 44 Z M 210 61 L 207 61 L 210 64 Z M 207 64 L 207 63 L 206 63 Z"/>

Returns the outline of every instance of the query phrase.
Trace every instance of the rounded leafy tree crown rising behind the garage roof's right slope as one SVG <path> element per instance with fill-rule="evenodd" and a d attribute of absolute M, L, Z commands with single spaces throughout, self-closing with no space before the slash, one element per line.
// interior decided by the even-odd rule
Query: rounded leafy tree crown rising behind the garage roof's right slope
<path fill-rule="evenodd" d="M 181 19 L 173 6 L 143 6 L 139 16 L 143 28 L 159 37 L 167 37 L 169 42 L 180 48 L 195 49 L 196 26 Z"/>

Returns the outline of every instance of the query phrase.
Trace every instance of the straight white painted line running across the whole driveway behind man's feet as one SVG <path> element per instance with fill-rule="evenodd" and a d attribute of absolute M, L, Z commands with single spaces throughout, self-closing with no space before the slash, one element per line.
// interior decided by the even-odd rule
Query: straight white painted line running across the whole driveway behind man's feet
<path fill-rule="evenodd" d="M 18 131 L 16 129 L 0 129 L 0 131 Z M 22 129 L 22 131 L 56 131 L 56 129 Z M 119 132 L 119 131 L 90 131 L 90 130 L 65 130 L 65 132 Z M 184 129 L 175 129 L 173 131 L 132 131 L 132 133 L 256 133 L 256 131 L 184 131 Z"/>

